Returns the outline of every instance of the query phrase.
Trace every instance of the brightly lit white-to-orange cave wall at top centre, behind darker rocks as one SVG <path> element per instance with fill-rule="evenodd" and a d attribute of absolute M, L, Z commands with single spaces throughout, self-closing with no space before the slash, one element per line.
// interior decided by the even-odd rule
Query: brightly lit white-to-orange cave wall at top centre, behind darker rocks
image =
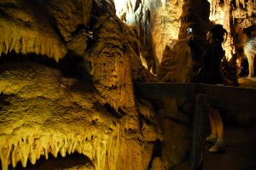
<path fill-rule="evenodd" d="M 179 17 L 183 1 L 114 1 L 116 14 L 130 26 L 137 26 L 142 57 L 149 70 L 158 66 L 166 45 L 172 46 L 178 38 Z M 153 63 L 153 64 L 152 64 Z"/>

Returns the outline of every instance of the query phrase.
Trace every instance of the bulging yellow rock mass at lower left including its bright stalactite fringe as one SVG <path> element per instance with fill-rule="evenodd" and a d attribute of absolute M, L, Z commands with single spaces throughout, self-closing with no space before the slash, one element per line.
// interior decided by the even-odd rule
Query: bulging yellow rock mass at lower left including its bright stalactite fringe
<path fill-rule="evenodd" d="M 9 101 L 0 105 L 3 170 L 74 152 L 88 156 L 96 169 L 116 167 L 122 129 L 103 106 L 93 104 L 98 94 L 70 90 L 77 80 L 63 78 L 54 68 L 11 66 L 0 77 L 1 102 Z"/>

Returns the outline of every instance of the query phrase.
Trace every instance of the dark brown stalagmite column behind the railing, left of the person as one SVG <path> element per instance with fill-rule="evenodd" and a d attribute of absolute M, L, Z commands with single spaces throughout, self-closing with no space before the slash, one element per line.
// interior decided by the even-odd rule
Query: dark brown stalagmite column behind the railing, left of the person
<path fill-rule="evenodd" d="M 172 48 L 165 48 L 162 62 L 159 66 L 158 79 L 163 82 L 194 82 L 199 69 L 201 51 L 206 47 L 208 3 L 206 1 L 184 1 L 181 14 L 181 26 L 178 32 L 178 41 Z M 188 28 L 193 29 L 193 41 L 196 48 L 189 47 L 186 37 Z"/>

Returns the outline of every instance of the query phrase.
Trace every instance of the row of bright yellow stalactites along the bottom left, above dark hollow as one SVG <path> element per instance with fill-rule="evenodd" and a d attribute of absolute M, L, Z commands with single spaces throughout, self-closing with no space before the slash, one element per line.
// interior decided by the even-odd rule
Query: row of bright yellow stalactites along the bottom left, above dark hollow
<path fill-rule="evenodd" d="M 23 137 L 15 134 L 2 135 L 0 138 L 2 169 L 7 170 L 9 165 L 16 167 L 18 162 L 21 162 L 22 167 L 26 167 L 28 161 L 34 165 L 40 156 L 44 156 L 48 160 L 49 154 L 55 157 L 58 154 L 66 157 L 67 154 L 70 155 L 74 152 L 88 156 L 95 163 L 96 169 L 115 168 L 116 165 L 112 162 L 119 159 L 119 150 L 117 150 L 120 146 L 119 132 L 118 126 L 113 133 L 103 135 L 96 135 L 100 132 L 96 134 L 93 132 L 84 134 L 71 132 L 69 134 L 49 133 L 49 135 L 44 133 L 41 136 L 39 131 L 38 134 L 30 133 Z"/>

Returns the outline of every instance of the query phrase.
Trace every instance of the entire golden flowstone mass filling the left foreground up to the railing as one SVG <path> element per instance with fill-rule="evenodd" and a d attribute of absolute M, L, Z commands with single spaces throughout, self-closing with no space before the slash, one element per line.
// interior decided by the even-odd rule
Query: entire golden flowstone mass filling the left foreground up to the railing
<path fill-rule="evenodd" d="M 61 168 L 188 167 L 189 122 L 175 117 L 177 103 L 161 108 L 134 93 L 134 82 L 156 78 L 113 1 L 3 0 L 0 11 L 3 170 L 56 169 L 38 162 L 79 154 L 83 165 Z"/>

